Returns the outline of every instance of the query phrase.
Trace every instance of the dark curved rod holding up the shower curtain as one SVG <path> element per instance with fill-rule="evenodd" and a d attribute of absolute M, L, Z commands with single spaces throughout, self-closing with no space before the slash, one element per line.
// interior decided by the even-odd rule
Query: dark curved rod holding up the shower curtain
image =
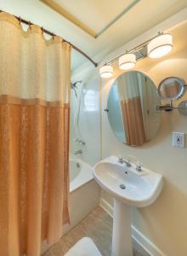
<path fill-rule="evenodd" d="M 0 13 L 2 13 L 2 12 L 4 12 L 4 11 L 0 9 Z M 11 14 L 11 15 L 12 15 L 12 14 Z M 24 24 L 26 24 L 26 25 L 28 25 L 28 26 L 34 25 L 34 23 L 32 23 L 30 20 L 22 19 L 21 17 L 18 17 L 18 16 L 16 16 L 16 15 L 14 15 L 14 17 L 15 17 L 17 20 L 19 20 L 20 22 L 22 22 L 22 23 L 24 23 Z M 48 35 L 51 36 L 51 37 L 57 36 L 56 34 L 54 34 L 53 32 L 48 31 L 46 28 L 44 28 L 44 27 L 42 27 L 42 26 L 41 26 L 41 29 L 42 29 L 42 32 L 48 34 Z M 83 52 L 82 49 L 77 48 L 76 45 L 71 44 L 70 42 L 66 41 L 64 38 L 63 38 L 63 41 L 66 42 L 66 43 L 68 43 L 68 44 L 70 44 L 73 49 L 77 50 L 77 52 L 79 52 L 81 55 L 83 55 L 85 58 L 87 58 L 88 61 L 91 61 L 91 62 L 94 64 L 95 67 L 98 66 L 98 64 L 97 64 L 95 61 L 93 61 L 85 52 Z"/>

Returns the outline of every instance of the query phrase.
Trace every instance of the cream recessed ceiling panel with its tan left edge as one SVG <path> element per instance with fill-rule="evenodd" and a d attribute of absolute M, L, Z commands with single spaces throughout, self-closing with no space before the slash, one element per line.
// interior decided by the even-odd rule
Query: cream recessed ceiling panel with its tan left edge
<path fill-rule="evenodd" d="M 41 1 L 94 38 L 98 38 L 128 9 L 139 2 L 139 0 L 117 0 L 117 4 L 110 4 L 109 0 Z"/>

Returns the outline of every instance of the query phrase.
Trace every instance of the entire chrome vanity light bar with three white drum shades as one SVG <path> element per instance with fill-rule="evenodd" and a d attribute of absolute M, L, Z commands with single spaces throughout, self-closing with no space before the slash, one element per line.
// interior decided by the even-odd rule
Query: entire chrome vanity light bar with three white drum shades
<path fill-rule="evenodd" d="M 100 67 L 99 73 L 101 78 L 108 79 L 113 75 L 113 67 L 111 66 L 116 61 L 119 62 L 119 68 L 123 70 L 135 67 L 136 61 L 139 59 L 161 58 L 167 55 L 173 49 L 173 36 L 159 32 L 154 38 L 150 38 L 142 44 L 127 51 L 123 55 L 119 55 L 111 61 L 105 63 L 105 66 Z"/>

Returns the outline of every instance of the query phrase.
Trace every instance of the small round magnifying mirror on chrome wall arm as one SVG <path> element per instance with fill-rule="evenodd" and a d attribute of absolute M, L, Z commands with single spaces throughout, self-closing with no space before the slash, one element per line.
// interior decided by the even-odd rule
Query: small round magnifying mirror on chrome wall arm
<path fill-rule="evenodd" d="M 185 83 L 183 79 L 176 77 L 169 77 L 163 79 L 158 86 L 158 95 L 162 100 L 167 102 L 177 101 L 179 98 L 184 96 Z"/>

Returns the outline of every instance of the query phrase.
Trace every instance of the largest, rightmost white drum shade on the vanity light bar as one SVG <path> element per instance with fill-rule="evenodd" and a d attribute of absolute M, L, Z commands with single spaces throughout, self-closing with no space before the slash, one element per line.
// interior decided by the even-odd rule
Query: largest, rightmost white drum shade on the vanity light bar
<path fill-rule="evenodd" d="M 173 37 L 170 34 L 159 33 L 147 45 L 147 53 L 151 59 L 161 58 L 173 49 Z"/>

